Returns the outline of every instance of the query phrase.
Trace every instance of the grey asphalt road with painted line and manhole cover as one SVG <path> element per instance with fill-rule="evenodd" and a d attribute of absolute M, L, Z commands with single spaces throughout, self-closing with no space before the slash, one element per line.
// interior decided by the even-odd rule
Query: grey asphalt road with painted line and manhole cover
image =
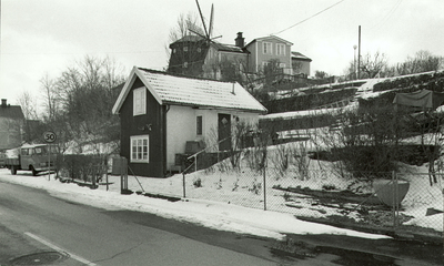
<path fill-rule="evenodd" d="M 442 246 L 339 235 L 281 243 L 104 211 L 0 182 L 0 265 L 442 265 Z"/>

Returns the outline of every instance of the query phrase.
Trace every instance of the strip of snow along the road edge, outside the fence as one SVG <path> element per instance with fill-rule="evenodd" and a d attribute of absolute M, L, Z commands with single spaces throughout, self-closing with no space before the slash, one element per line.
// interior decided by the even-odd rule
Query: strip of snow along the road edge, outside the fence
<path fill-rule="evenodd" d="M 111 176 L 111 178 L 117 181 L 115 176 Z M 387 237 L 302 222 L 287 213 L 265 212 L 209 200 L 189 198 L 179 202 L 169 202 L 137 194 L 121 195 L 115 191 L 115 184 L 111 185 L 110 191 L 105 191 L 105 186 L 100 186 L 99 190 L 90 190 L 73 183 L 61 183 L 56 181 L 53 175 L 50 180 L 48 180 L 48 175 L 32 176 L 27 172 L 19 172 L 18 175 L 11 175 L 6 168 L 0 170 L 0 181 L 46 190 L 53 196 L 100 208 L 147 212 L 167 218 L 200 224 L 214 229 L 276 239 L 284 238 L 285 234 L 289 233 L 337 234 L 364 238 Z M 150 178 L 150 181 L 153 180 Z M 175 180 L 155 181 L 175 182 Z M 150 185 L 152 186 L 153 183 L 150 182 Z"/>

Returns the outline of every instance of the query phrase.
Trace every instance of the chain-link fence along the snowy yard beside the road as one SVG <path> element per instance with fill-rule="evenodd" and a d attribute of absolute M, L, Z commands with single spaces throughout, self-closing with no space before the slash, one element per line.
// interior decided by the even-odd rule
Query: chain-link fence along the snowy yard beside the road
<path fill-rule="evenodd" d="M 129 176 L 128 188 L 290 213 L 306 221 L 442 235 L 443 177 L 437 175 L 431 185 L 424 173 L 345 174 L 294 165 L 264 171 L 220 163 L 169 178 Z"/>

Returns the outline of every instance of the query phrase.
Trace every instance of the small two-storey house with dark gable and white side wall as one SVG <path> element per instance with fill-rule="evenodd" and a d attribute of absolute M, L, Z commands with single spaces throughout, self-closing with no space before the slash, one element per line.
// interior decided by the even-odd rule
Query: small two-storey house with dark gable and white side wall
<path fill-rule="evenodd" d="M 112 113 L 120 116 L 121 156 L 132 172 L 162 177 L 181 166 L 176 158 L 190 144 L 230 150 L 232 125 L 258 123 L 266 109 L 239 83 L 134 66 Z"/>

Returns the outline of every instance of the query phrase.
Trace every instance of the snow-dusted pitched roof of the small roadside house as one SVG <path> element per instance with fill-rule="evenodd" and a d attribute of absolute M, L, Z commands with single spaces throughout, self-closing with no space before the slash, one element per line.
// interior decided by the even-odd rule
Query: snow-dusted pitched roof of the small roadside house
<path fill-rule="evenodd" d="M 266 113 L 266 109 L 239 83 L 176 76 L 134 66 L 112 109 L 114 114 L 120 112 L 135 78 L 142 81 L 159 104 Z"/>

